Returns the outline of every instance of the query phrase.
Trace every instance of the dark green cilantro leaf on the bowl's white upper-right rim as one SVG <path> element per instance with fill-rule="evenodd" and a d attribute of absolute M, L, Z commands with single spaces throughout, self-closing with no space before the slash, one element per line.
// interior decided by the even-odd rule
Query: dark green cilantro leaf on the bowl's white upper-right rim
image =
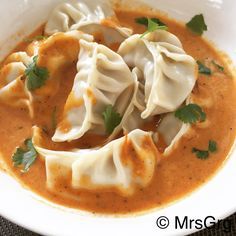
<path fill-rule="evenodd" d="M 204 31 L 207 31 L 203 14 L 194 16 L 186 26 L 197 35 L 202 35 Z"/>

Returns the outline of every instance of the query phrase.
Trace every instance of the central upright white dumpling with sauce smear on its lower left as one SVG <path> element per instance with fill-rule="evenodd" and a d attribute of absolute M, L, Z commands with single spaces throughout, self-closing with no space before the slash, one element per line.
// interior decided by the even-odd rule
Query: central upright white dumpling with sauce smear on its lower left
<path fill-rule="evenodd" d="M 63 119 L 52 138 L 55 142 L 75 140 L 88 131 L 105 134 L 102 113 L 106 107 L 112 105 L 123 116 L 133 94 L 128 66 L 101 44 L 80 41 L 77 71 Z"/>

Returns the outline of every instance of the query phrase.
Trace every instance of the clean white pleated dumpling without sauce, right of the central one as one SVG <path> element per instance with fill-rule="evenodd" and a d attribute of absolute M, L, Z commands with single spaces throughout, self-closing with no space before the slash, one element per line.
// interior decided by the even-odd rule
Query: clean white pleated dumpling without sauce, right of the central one
<path fill-rule="evenodd" d="M 141 117 L 175 111 L 191 93 L 197 78 L 195 60 L 186 55 L 173 34 L 157 30 L 143 38 L 136 34 L 126 39 L 118 50 L 143 87 Z"/>

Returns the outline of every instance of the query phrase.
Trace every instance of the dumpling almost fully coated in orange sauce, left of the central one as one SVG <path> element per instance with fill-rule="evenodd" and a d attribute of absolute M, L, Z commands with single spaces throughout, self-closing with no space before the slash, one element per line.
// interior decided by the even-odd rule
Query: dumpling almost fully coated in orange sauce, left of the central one
<path fill-rule="evenodd" d="M 44 40 L 38 50 L 37 65 L 47 68 L 49 78 L 45 85 L 34 91 L 35 96 L 53 95 L 57 92 L 60 81 L 58 77 L 63 68 L 76 63 L 80 51 L 80 40 L 93 41 L 93 37 L 74 30 L 56 33 Z"/>

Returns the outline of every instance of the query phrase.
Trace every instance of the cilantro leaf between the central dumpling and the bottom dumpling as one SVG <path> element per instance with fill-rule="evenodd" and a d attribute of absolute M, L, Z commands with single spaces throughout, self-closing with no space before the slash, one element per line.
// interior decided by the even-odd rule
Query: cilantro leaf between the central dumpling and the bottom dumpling
<path fill-rule="evenodd" d="M 102 113 L 106 132 L 111 134 L 113 130 L 118 126 L 122 120 L 122 117 L 112 105 L 108 105 L 105 111 Z"/>

